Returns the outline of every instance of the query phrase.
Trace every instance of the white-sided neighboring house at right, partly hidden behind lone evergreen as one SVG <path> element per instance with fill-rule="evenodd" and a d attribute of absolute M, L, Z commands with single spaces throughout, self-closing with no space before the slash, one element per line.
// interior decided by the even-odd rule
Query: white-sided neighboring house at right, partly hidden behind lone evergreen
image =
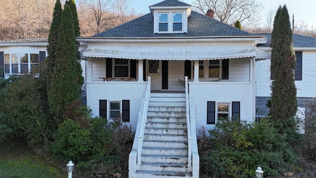
<path fill-rule="evenodd" d="M 267 36 L 267 42 L 259 43 L 257 47 L 271 53 L 269 47 L 271 34 L 257 35 Z M 293 49 L 296 55 L 295 85 L 298 107 L 304 112 L 307 104 L 316 97 L 316 38 L 293 34 Z M 271 98 L 270 66 L 271 59 L 256 61 L 256 114 L 258 117 L 265 117 L 269 112 L 266 103 Z"/>

